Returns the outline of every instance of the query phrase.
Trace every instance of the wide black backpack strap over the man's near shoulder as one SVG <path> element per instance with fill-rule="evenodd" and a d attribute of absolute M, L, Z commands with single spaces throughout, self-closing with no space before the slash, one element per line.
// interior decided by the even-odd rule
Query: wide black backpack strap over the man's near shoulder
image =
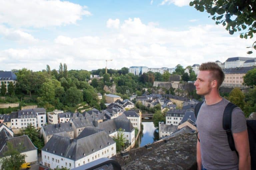
<path fill-rule="evenodd" d="M 222 126 L 223 129 L 226 130 L 228 136 L 228 144 L 232 151 L 236 151 L 234 139 L 231 132 L 232 111 L 235 107 L 237 107 L 235 104 L 229 102 L 225 107 L 222 120 Z"/>

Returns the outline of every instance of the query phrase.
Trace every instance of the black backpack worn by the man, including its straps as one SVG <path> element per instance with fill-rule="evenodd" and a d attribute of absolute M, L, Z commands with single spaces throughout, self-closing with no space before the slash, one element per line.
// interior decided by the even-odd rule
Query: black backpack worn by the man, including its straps
<path fill-rule="evenodd" d="M 195 117 L 197 118 L 198 111 L 203 104 L 204 101 L 199 102 L 195 107 Z M 225 107 L 223 113 L 222 126 L 223 129 L 226 130 L 228 136 L 228 144 L 232 151 L 236 151 L 234 139 L 231 132 L 231 116 L 233 109 L 237 107 L 235 104 L 229 102 Z M 249 137 L 249 145 L 250 145 L 250 155 L 251 155 L 251 169 L 256 169 L 256 120 L 246 120 L 247 131 Z M 200 140 L 199 140 L 200 141 Z M 236 151 L 237 155 L 238 152 Z"/>

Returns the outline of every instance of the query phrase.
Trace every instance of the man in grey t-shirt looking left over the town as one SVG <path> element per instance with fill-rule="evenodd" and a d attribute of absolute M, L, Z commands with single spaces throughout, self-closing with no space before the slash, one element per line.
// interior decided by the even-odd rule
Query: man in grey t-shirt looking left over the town
<path fill-rule="evenodd" d="M 236 107 L 232 112 L 231 131 L 239 157 L 231 151 L 226 131 L 222 127 L 223 112 L 228 100 L 219 94 L 224 81 L 222 69 L 213 62 L 203 63 L 194 83 L 196 93 L 204 95 L 196 124 L 198 130 L 198 170 L 250 170 L 250 151 L 247 126 L 243 111 Z"/>

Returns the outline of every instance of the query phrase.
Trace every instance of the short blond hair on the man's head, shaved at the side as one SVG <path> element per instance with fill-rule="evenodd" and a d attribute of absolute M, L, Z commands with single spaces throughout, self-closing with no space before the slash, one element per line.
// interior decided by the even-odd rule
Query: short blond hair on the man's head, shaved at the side
<path fill-rule="evenodd" d="M 224 81 L 225 75 L 219 65 L 214 62 L 207 62 L 201 64 L 200 71 L 210 71 L 210 76 L 213 80 L 217 81 L 217 87 L 219 88 Z"/>

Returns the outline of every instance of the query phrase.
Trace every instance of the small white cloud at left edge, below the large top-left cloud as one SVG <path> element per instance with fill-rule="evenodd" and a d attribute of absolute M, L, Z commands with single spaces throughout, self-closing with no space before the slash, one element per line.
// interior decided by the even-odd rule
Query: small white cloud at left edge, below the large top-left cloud
<path fill-rule="evenodd" d="M 23 32 L 21 30 L 8 29 L 3 25 L 0 25 L 0 35 L 3 35 L 6 39 L 19 42 L 37 42 L 31 34 Z"/>

